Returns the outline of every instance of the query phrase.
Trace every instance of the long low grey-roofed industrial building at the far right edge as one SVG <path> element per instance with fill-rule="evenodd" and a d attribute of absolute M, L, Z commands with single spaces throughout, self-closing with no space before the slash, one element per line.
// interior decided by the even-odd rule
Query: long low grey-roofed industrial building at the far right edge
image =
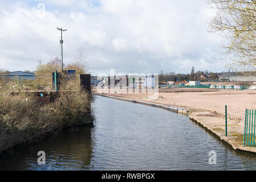
<path fill-rule="evenodd" d="M 220 81 L 256 81 L 255 72 L 225 72 L 220 76 Z"/>

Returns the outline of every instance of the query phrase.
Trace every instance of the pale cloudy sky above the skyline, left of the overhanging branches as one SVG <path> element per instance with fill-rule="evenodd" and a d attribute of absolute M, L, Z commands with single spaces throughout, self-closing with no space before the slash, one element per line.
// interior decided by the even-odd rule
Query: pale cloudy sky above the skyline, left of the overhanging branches
<path fill-rule="evenodd" d="M 60 56 L 63 27 L 64 64 L 83 46 L 92 75 L 225 71 L 213 15 L 205 0 L 0 0 L 0 69 L 35 71 Z"/>

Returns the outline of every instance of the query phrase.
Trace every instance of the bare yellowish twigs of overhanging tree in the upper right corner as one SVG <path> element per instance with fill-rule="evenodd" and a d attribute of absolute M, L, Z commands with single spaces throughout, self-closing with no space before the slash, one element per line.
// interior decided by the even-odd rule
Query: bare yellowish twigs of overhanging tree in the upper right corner
<path fill-rule="evenodd" d="M 222 50 L 227 67 L 256 70 L 256 0 L 207 0 L 217 10 L 211 32 L 221 32 L 227 40 Z"/>

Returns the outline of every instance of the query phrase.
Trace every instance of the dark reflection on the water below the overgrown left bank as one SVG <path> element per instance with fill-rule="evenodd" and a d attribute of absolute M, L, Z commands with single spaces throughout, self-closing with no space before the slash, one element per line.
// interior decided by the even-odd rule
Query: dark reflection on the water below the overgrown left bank
<path fill-rule="evenodd" d="M 44 142 L 0 156 L 0 169 L 89 169 L 92 158 L 91 127 L 66 129 Z M 46 165 L 37 163 L 37 152 L 46 152 Z"/>

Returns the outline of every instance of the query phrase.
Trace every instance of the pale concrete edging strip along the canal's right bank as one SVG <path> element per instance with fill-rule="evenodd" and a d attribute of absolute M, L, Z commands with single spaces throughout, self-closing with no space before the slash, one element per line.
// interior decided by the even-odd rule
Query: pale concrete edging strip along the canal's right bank
<path fill-rule="evenodd" d="M 136 101 L 136 100 L 130 100 L 127 98 L 107 96 L 104 94 L 97 94 L 97 93 L 94 93 L 94 94 L 96 96 L 108 97 L 108 98 L 112 98 L 112 99 L 116 99 L 116 100 L 133 102 L 136 104 L 143 104 L 143 105 L 148 105 L 148 106 L 153 106 L 153 107 L 159 107 L 161 109 L 166 109 L 166 110 L 174 111 L 176 113 L 189 115 L 189 118 L 192 119 L 192 121 L 199 123 L 202 127 L 211 131 L 213 134 L 215 134 L 221 140 L 230 144 L 234 150 L 241 150 L 241 151 L 256 153 L 256 147 L 245 147 L 245 146 L 243 146 L 241 141 L 236 140 L 236 139 L 241 139 L 241 135 L 243 135 L 243 132 L 242 132 L 243 129 L 242 130 L 239 129 L 239 131 L 238 131 L 237 127 L 234 127 L 234 124 L 230 124 L 230 126 L 228 124 L 228 129 L 233 127 L 233 130 L 231 129 L 230 133 L 235 133 L 235 135 L 228 135 L 228 137 L 226 137 L 225 130 L 224 130 L 225 126 L 224 125 L 216 125 L 216 123 L 220 123 L 221 118 L 217 117 L 217 115 L 214 115 L 210 112 L 193 112 L 193 113 L 191 113 L 190 109 L 186 109 L 183 107 L 165 106 L 165 105 L 160 105 L 160 104 L 154 104 L 151 102 Z M 212 125 L 212 123 L 214 125 Z"/>

